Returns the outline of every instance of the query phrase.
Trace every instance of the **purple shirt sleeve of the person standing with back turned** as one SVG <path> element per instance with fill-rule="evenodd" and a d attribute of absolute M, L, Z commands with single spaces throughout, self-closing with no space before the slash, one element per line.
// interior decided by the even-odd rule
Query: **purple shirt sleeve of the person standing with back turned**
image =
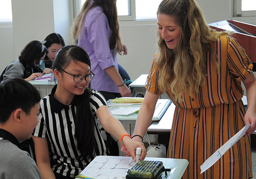
<path fill-rule="evenodd" d="M 115 65 L 115 62 L 110 49 L 109 38 L 111 30 L 109 28 L 108 18 L 103 12 L 89 17 L 92 19 L 85 23 L 88 40 L 90 41 L 100 68 L 102 70 L 110 68 Z"/>

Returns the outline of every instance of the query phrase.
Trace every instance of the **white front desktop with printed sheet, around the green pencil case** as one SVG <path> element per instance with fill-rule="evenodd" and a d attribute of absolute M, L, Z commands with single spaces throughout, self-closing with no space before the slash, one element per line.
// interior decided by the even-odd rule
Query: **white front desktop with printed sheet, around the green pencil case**
<path fill-rule="evenodd" d="M 167 179 L 179 179 L 188 166 L 185 159 L 166 159 L 166 158 L 145 158 L 147 161 L 161 161 L 164 168 L 170 169 L 167 172 Z M 96 158 L 80 173 L 83 176 L 95 179 L 124 179 L 127 171 L 135 163 L 130 156 L 96 156 Z M 160 178 L 165 178 L 163 172 Z M 76 177 L 79 179 L 81 177 Z"/>

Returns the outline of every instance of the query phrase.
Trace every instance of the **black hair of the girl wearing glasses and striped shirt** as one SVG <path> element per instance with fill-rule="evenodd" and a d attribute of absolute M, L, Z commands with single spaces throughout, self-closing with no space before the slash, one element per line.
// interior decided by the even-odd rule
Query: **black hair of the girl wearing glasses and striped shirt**
<path fill-rule="evenodd" d="M 61 69 L 65 69 L 70 61 L 86 63 L 91 67 L 91 61 L 82 48 L 71 45 L 62 47 L 55 60 L 53 61 L 53 70 L 57 69 L 61 72 Z M 92 114 L 90 106 L 91 99 L 91 84 L 82 95 L 75 96 L 77 98 L 76 106 L 76 119 L 75 119 L 75 137 L 77 139 L 77 148 L 81 152 L 78 158 L 86 159 L 88 155 L 91 155 L 94 150 L 95 137 L 95 118 Z"/>

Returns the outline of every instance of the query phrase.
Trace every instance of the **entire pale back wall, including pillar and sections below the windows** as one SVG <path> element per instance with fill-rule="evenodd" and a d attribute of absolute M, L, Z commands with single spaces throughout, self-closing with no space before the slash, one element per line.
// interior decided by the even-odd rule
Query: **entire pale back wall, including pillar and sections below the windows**
<path fill-rule="evenodd" d="M 44 40 L 52 33 L 60 33 L 66 44 L 71 44 L 70 26 L 73 18 L 71 0 L 12 0 L 13 28 L 0 24 L 0 73 L 6 65 L 17 59 L 31 40 Z M 232 18 L 232 0 L 198 0 L 207 23 L 236 19 L 256 25 L 255 17 Z M 6 26 L 6 25 L 4 25 Z M 152 21 L 120 21 L 122 42 L 128 55 L 118 56 L 119 63 L 132 80 L 147 74 L 157 51 L 157 25 Z"/>

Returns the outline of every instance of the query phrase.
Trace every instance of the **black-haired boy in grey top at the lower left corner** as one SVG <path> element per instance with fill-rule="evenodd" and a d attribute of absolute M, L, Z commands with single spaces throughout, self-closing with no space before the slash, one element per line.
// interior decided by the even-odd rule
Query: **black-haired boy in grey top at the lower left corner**
<path fill-rule="evenodd" d="M 40 95 L 21 78 L 0 85 L 0 178 L 41 178 L 35 161 L 20 149 L 38 123 Z"/>

